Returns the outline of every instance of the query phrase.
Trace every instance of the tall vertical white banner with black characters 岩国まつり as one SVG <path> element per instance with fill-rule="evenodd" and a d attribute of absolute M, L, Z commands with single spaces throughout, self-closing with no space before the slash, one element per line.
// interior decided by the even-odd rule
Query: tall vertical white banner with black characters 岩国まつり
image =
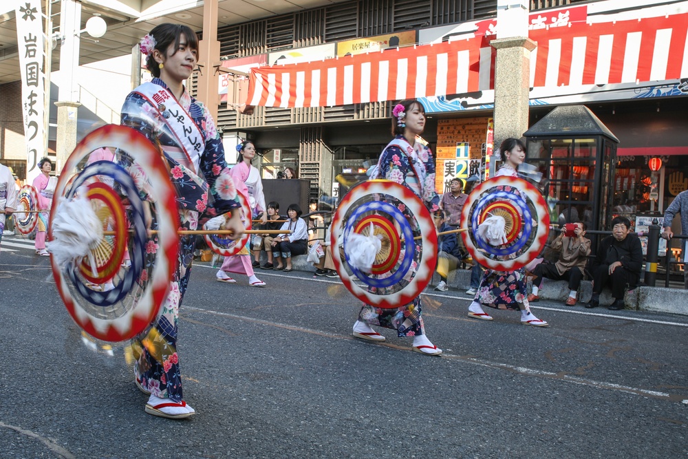
<path fill-rule="evenodd" d="M 37 162 L 44 155 L 43 111 L 43 15 L 41 0 L 17 1 L 17 42 L 21 70 L 21 106 L 26 143 L 26 180 L 31 183 L 40 171 Z"/>

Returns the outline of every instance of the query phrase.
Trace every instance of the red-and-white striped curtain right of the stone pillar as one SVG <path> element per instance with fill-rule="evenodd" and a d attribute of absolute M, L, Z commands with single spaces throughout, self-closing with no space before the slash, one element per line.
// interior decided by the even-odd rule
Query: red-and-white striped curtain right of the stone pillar
<path fill-rule="evenodd" d="M 530 86 L 642 83 L 688 76 L 688 14 L 531 30 Z M 534 65 L 534 66 L 533 66 Z"/>

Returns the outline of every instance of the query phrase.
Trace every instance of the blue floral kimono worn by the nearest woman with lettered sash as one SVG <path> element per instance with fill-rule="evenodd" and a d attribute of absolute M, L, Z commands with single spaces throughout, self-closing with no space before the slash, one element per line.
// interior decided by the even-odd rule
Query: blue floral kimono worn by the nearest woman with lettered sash
<path fill-rule="evenodd" d="M 166 87 L 158 78 L 153 78 L 152 83 Z M 200 156 L 198 171 L 194 172 L 169 156 L 165 157 L 169 165 L 170 179 L 178 195 L 180 229 L 195 230 L 208 218 L 237 209 L 240 205 L 236 189 L 226 186 L 223 182 L 224 178 L 229 176 L 229 169 L 224 160 L 222 140 L 217 134 L 212 117 L 200 102 L 186 92 L 179 103 L 204 135 L 204 149 Z M 122 107 L 122 125 L 137 129 L 163 150 L 166 146 L 176 146 L 175 136 L 161 119 L 158 109 L 152 107 L 149 101 L 137 92 L 132 92 L 125 100 Z M 143 190 L 142 194 L 145 195 L 147 180 L 144 172 L 136 164 L 126 166 L 134 182 L 142 185 L 139 189 Z M 144 195 L 142 198 L 147 198 Z M 177 350 L 177 323 L 180 304 L 189 284 L 195 239 L 195 236 L 180 237 L 179 255 L 175 262 L 169 295 L 153 326 L 133 343 L 133 347 L 140 351 L 134 365 L 138 381 L 151 394 L 173 401 L 182 401 L 184 398 Z M 160 247 L 153 238 L 147 242 L 145 249 L 146 264 L 149 268 L 155 262 Z M 139 281 L 146 282 L 147 274 L 148 271 L 144 270 Z"/>

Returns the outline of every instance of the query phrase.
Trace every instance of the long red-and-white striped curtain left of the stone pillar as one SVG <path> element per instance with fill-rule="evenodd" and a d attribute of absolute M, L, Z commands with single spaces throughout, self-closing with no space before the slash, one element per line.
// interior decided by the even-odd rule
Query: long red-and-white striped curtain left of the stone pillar
<path fill-rule="evenodd" d="M 248 105 L 323 107 L 474 92 L 493 85 L 482 38 L 251 69 Z"/>

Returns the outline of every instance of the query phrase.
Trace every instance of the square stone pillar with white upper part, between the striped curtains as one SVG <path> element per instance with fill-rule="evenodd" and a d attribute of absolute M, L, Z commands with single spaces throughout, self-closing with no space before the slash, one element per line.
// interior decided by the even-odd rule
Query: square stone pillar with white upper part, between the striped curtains
<path fill-rule="evenodd" d="M 495 61 L 495 152 L 502 140 L 521 138 L 528 130 L 530 52 L 537 44 L 528 38 L 527 0 L 497 0 Z M 490 162 L 493 169 L 496 161 Z M 494 171 L 491 170 L 491 176 Z"/>

